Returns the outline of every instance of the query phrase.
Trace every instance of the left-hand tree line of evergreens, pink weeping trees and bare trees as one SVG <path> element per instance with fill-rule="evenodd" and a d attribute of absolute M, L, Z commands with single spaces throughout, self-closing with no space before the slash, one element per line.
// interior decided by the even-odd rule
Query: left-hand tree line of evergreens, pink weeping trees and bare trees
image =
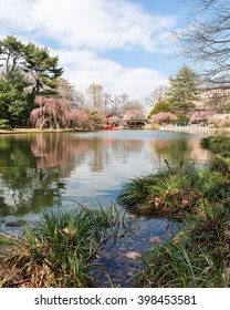
<path fill-rule="evenodd" d="M 8 35 L 0 41 L 0 127 L 83 127 L 92 130 L 105 114 L 122 117 L 143 110 L 123 93 L 112 97 L 93 83 L 85 93 L 63 78 L 59 58 L 48 48 L 23 44 Z"/>

